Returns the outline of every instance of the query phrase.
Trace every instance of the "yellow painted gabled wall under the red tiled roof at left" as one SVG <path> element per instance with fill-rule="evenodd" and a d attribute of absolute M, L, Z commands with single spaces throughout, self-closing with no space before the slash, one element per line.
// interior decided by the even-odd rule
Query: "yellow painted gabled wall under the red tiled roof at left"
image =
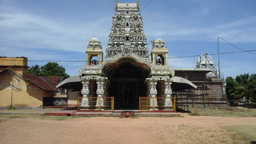
<path fill-rule="evenodd" d="M 18 81 L 19 80 L 19 81 Z M 8 71 L 0 74 L 0 106 L 42 106 L 42 98 L 53 96 L 53 92 L 41 89 L 33 83 L 16 80 Z M 11 96 L 12 95 L 12 96 Z"/>

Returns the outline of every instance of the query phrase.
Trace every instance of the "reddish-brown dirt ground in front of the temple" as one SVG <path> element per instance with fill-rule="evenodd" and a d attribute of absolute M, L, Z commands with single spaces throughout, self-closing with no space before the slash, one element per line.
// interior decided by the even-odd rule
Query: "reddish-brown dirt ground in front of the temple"
<path fill-rule="evenodd" d="M 184 117 L 119 118 L 0 112 L 0 143 L 244 143 L 233 141 L 233 133 L 223 126 L 256 126 L 256 117 L 187 113 L 181 113 Z"/>

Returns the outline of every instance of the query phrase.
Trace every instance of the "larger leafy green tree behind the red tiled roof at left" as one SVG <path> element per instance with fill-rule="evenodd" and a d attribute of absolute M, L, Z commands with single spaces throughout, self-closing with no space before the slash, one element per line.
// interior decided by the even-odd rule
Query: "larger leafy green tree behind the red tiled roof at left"
<path fill-rule="evenodd" d="M 59 66 L 56 62 L 48 62 L 47 64 L 41 66 L 40 76 L 62 76 L 64 78 L 70 77 L 65 73 L 65 68 L 61 65 Z"/>

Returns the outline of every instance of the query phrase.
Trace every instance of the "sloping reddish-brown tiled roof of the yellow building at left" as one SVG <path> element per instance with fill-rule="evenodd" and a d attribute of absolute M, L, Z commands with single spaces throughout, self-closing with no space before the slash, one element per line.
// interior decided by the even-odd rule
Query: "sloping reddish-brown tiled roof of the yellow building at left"
<path fill-rule="evenodd" d="M 59 83 L 59 78 L 61 76 L 36 76 L 32 74 L 26 74 L 24 75 L 19 75 L 16 73 L 14 70 L 11 70 L 9 68 L 4 69 L 3 71 L 0 72 L 0 74 L 4 71 L 9 71 L 11 74 L 15 74 L 19 77 L 22 77 L 25 81 L 31 82 L 34 85 L 37 85 L 38 87 L 45 89 L 45 90 L 51 90 L 51 91 L 59 91 L 56 89 L 56 85 Z"/>

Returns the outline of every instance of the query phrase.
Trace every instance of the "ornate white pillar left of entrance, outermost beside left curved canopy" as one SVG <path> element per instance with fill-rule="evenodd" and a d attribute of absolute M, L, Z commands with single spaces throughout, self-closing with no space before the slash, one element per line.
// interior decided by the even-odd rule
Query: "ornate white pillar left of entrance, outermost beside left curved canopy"
<path fill-rule="evenodd" d="M 88 94 L 89 94 L 89 79 L 84 79 L 82 81 L 82 100 L 80 109 L 89 109 L 89 100 L 88 100 Z"/>

